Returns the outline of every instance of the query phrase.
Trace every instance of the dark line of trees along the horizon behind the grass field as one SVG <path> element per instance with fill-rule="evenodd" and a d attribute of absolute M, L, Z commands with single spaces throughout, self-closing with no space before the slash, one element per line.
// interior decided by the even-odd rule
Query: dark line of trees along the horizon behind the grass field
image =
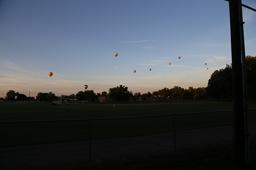
<path fill-rule="evenodd" d="M 248 92 L 248 100 L 256 100 L 256 79 L 254 78 L 256 75 L 256 56 L 246 56 L 246 74 L 247 74 L 247 92 Z M 61 98 L 68 98 L 72 100 L 91 100 L 98 101 L 100 96 L 108 96 L 112 101 L 128 101 L 129 98 L 135 97 L 155 97 L 155 96 L 163 96 L 163 97 L 180 97 L 182 99 L 192 99 L 192 100 L 202 100 L 202 99 L 217 99 L 222 101 L 231 101 L 233 98 L 233 90 L 232 90 L 232 64 L 226 64 L 226 67 L 220 70 L 215 70 L 210 79 L 208 80 L 207 87 L 198 87 L 193 88 L 188 87 L 188 89 L 184 89 L 179 86 L 174 86 L 173 88 L 164 87 L 161 90 L 154 92 L 147 92 L 141 94 L 140 92 L 132 93 L 132 91 L 128 91 L 128 87 L 119 85 L 116 87 L 109 88 L 108 93 L 103 91 L 101 93 L 95 93 L 93 90 L 85 90 L 79 91 L 75 94 L 71 95 L 61 95 Z M 52 101 L 57 99 L 56 95 L 52 92 L 42 93 L 38 92 L 36 96 L 36 100 L 40 101 Z M 1 100 L 4 100 L 1 98 Z M 28 97 L 24 94 L 20 94 L 19 92 L 15 92 L 13 90 L 9 90 L 6 93 L 5 100 L 19 100 L 24 101 L 28 100 Z"/>

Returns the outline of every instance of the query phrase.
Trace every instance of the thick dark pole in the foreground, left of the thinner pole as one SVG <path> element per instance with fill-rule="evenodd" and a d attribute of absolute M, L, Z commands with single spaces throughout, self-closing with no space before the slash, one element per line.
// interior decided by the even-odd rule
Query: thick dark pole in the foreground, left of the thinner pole
<path fill-rule="evenodd" d="M 229 15 L 234 100 L 233 109 L 235 164 L 238 167 L 244 167 L 246 165 L 244 137 L 244 100 L 238 0 L 229 1 Z"/>

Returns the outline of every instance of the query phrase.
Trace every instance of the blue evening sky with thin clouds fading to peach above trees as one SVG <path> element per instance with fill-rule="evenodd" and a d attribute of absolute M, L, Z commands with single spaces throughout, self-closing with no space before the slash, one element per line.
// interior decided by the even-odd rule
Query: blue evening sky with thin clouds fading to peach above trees
<path fill-rule="evenodd" d="M 243 7 L 243 20 L 245 55 L 255 56 L 256 12 Z M 0 97 L 206 87 L 230 63 L 224 0 L 0 1 Z"/>

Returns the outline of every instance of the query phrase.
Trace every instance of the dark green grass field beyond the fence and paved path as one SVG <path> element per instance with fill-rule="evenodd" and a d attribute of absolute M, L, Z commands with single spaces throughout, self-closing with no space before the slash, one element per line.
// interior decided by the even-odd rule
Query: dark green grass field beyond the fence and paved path
<path fill-rule="evenodd" d="M 113 106 L 115 105 L 115 106 Z M 233 103 L 183 104 L 72 104 L 0 105 L 0 122 L 110 118 L 229 110 Z M 249 108 L 256 108 L 250 102 Z M 255 112 L 255 111 L 254 111 Z M 250 115 L 256 122 L 256 114 Z M 231 112 L 176 115 L 176 130 L 198 129 L 232 123 Z M 89 139 L 89 121 L 1 123 L 0 147 L 82 141 Z M 138 136 L 173 130 L 172 116 L 92 120 L 92 139 Z"/>

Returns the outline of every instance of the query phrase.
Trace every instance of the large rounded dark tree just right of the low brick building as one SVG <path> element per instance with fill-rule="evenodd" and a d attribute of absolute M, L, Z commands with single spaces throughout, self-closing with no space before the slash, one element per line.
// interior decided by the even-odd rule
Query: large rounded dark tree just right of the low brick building
<path fill-rule="evenodd" d="M 109 88 L 108 90 L 108 97 L 112 100 L 112 101 L 119 101 L 119 103 L 122 100 L 126 100 L 128 101 L 129 99 L 129 91 L 128 91 L 128 87 L 125 87 L 123 85 L 119 85 L 113 88 Z"/>

